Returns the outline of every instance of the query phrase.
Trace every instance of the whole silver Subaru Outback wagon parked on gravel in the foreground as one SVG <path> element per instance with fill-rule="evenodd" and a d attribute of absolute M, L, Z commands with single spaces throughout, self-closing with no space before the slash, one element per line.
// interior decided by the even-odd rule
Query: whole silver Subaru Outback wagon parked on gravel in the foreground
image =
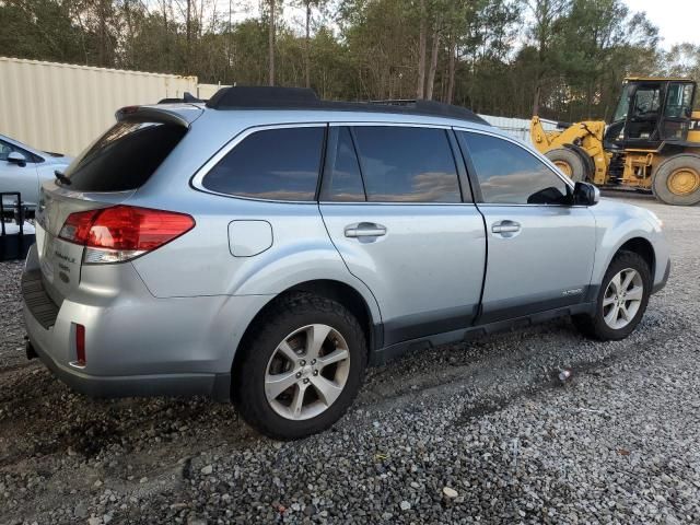
<path fill-rule="evenodd" d="M 406 350 L 561 315 L 627 337 L 668 271 L 653 213 L 466 109 L 231 88 L 118 112 L 44 184 L 22 288 L 27 354 L 77 390 L 295 439 Z"/>

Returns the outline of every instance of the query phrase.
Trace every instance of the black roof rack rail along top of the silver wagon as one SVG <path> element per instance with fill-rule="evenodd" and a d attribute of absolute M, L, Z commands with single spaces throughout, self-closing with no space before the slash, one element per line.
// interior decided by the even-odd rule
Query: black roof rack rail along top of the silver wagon
<path fill-rule="evenodd" d="M 212 109 L 328 109 L 455 118 L 490 126 L 466 107 L 435 101 L 388 100 L 335 102 L 318 98 L 308 88 L 233 86 L 223 88 L 207 101 Z"/>

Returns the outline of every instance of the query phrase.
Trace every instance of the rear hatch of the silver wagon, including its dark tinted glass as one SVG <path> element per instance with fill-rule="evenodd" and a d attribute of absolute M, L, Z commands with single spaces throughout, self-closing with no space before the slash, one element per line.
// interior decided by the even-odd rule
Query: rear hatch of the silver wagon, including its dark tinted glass
<path fill-rule="evenodd" d="M 195 106 L 189 106 L 195 107 Z M 36 246 L 44 285 L 58 305 L 80 284 L 89 225 L 85 218 L 132 196 L 183 139 L 199 114 L 150 106 L 117 114 L 118 121 L 45 183 L 36 214 Z M 92 212 L 92 213 L 91 213 Z M 82 222 L 81 222 L 82 221 Z"/>

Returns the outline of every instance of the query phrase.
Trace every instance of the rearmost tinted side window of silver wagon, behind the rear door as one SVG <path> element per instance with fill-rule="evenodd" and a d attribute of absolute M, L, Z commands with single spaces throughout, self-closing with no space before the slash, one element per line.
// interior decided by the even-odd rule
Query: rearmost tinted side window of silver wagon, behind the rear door
<path fill-rule="evenodd" d="M 313 201 L 324 136 L 325 127 L 256 131 L 209 171 L 202 186 L 240 197 Z"/>

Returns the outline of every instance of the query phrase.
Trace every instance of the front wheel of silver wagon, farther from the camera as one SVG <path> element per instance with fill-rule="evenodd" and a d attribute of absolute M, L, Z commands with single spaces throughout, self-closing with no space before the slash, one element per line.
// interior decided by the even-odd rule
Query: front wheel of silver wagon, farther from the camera
<path fill-rule="evenodd" d="M 642 319 L 651 288 L 646 261 L 633 252 L 620 252 L 605 272 L 595 314 L 575 315 L 573 323 L 583 335 L 594 339 L 625 339 Z"/>

